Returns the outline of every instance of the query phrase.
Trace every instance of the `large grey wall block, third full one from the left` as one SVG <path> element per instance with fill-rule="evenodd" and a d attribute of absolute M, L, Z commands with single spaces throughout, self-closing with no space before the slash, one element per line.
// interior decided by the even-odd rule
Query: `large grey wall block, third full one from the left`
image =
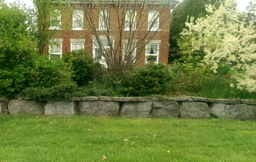
<path fill-rule="evenodd" d="M 81 115 L 116 117 L 119 112 L 119 102 L 116 101 L 79 101 L 77 108 Z"/>

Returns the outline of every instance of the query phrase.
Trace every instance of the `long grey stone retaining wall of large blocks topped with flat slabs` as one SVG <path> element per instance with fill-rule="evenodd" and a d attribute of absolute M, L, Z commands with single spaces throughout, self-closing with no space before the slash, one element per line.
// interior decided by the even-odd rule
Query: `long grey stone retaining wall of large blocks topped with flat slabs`
<path fill-rule="evenodd" d="M 111 117 L 176 117 L 256 120 L 256 100 L 201 97 L 73 97 L 70 101 L 0 98 L 3 114 L 86 115 Z"/>

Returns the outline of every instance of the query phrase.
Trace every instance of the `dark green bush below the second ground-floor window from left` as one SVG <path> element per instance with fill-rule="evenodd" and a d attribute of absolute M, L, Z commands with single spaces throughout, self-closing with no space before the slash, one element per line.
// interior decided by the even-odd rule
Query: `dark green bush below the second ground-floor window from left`
<path fill-rule="evenodd" d="M 93 57 L 83 49 L 68 52 L 63 55 L 62 60 L 73 68 L 73 80 L 79 86 L 86 85 L 96 79 L 102 70 L 102 66 L 94 62 Z"/>

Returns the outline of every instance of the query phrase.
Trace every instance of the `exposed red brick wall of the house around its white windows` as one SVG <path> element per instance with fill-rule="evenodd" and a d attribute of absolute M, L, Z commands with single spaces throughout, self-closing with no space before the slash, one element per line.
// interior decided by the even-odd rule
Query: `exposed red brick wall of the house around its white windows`
<path fill-rule="evenodd" d="M 95 21 L 95 26 L 98 28 L 99 26 L 99 14 L 96 8 L 93 10 L 93 19 Z M 137 27 L 137 35 L 143 35 L 143 32 L 147 30 L 148 26 L 148 11 L 150 9 L 143 9 L 143 13 L 145 15 L 140 19 L 140 23 Z M 120 10 L 122 12 L 122 10 Z M 140 9 L 137 10 L 137 17 L 138 13 L 140 13 Z M 65 27 L 62 28 L 62 30 L 59 32 L 59 34 L 55 34 L 54 38 L 63 38 L 62 42 L 62 54 L 65 54 L 66 52 L 70 51 L 70 39 L 85 39 L 84 48 L 88 53 L 92 54 L 93 51 L 93 43 L 92 43 L 92 33 L 87 28 L 87 26 L 84 26 L 84 31 L 73 31 L 72 28 L 72 15 L 70 14 L 67 9 L 64 9 L 61 12 L 62 20 L 61 24 Z M 153 37 L 152 40 L 161 40 L 160 46 L 159 46 L 159 62 L 168 64 L 168 50 L 169 50 L 169 26 L 170 26 L 170 19 L 168 17 L 170 14 L 170 9 L 165 9 L 163 13 L 160 15 L 160 23 L 163 22 L 162 27 L 160 28 L 160 31 L 157 31 L 158 33 Z M 117 23 L 117 15 L 116 15 L 116 8 L 111 10 L 110 13 L 110 19 L 111 19 L 111 29 L 114 35 L 117 33 L 118 23 Z M 84 15 L 84 23 L 87 22 L 86 16 Z M 123 31 L 126 36 L 128 36 L 128 31 Z M 126 33 L 125 33 L 126 32 Z M 154 33 L 156 31 L 151 31 L 151 33 Z M 105 35 L 103 31 L 98 31 L 99 35 Z M 118 34 L 117 34 L 118 35 Z M 116 45 L 115 45 L 116 47 Z M 138 48 L 141 48 L 141 45 L 138 45 Z M 141 54 L 139 57 L 139 64 L 144 65 L 145 62 L 145 48 L 143 49 L 144 54 Z M 138 54 L 138 53 L 137 53 Z"/>

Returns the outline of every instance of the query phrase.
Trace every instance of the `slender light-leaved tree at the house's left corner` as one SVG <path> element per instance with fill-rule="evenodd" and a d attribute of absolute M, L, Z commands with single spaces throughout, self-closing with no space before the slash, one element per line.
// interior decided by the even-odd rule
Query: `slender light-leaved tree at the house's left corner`
<path fill-rule="evenodd" d="M 61 23 L 61 20 L 71 18 L 71 12 L 63 17 L 61 11 L 63 9 L 69 11 L 70 3 L 67 0 L 33 0 L 33 3 L 36 8 L 35 24 L 37 24 L 35 38 L 39 53 L 44 54 L 53 36 L 61 32 L 59 29 L 67 26 L 66 23 Z"/>

